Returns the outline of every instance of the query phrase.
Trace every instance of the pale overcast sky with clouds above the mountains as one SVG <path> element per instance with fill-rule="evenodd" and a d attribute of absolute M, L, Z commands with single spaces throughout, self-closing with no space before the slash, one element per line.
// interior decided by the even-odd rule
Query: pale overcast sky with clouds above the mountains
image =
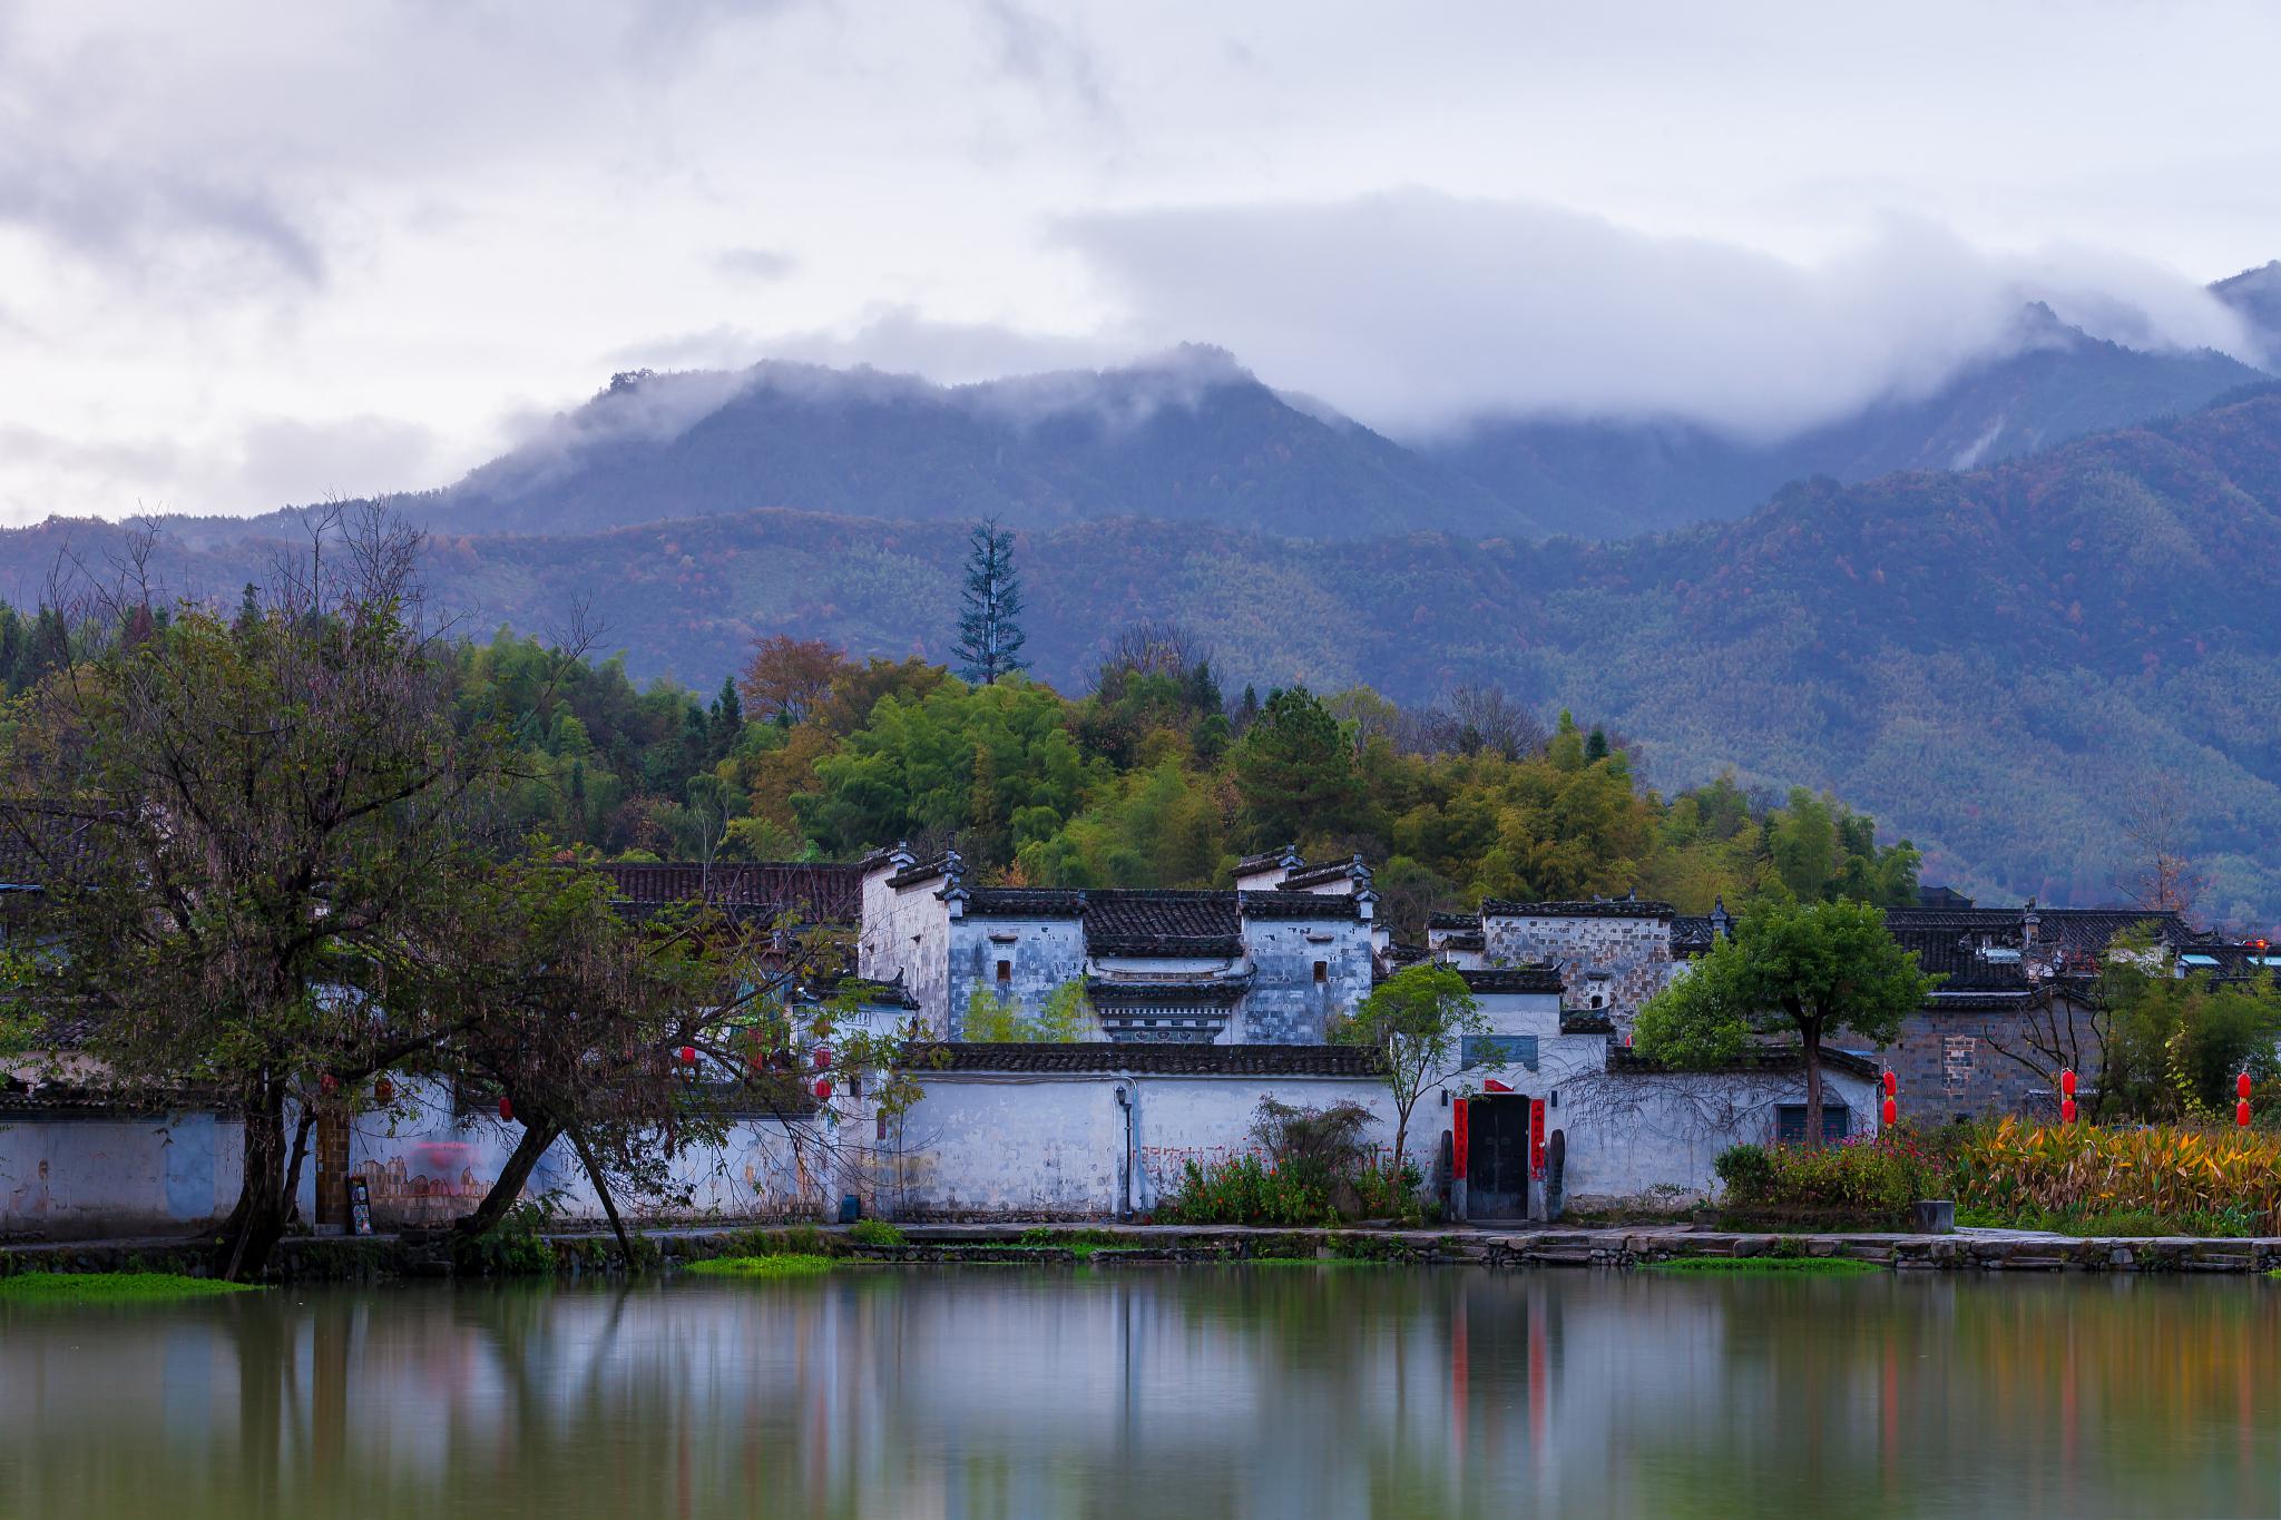
<path fill-rule="evenodd" d="M 0 0 L 0 524 L 443 485 L 630 367 L 1177 342 L 1779 435 L 2023 299 L 2258 356 L 2281 7 Z"/>

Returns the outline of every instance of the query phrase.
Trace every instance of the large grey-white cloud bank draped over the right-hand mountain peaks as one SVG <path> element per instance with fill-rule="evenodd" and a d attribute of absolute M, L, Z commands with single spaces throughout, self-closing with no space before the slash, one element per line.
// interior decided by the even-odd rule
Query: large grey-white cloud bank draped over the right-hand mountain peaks
<path fill-rule="evenodd" d="M 1544 412 L 1779 435 L 2010 351 L 2030 299 L 2119 342 L 2251 353 L 2183 276 L 2080 248 L 1991 255 L 1923 221 L 1800 264 L 1412 189 L 1093 212 L 1061 239 L 1131 342 L 1209 337 L 1271 385 L 1401 433 Z"/>

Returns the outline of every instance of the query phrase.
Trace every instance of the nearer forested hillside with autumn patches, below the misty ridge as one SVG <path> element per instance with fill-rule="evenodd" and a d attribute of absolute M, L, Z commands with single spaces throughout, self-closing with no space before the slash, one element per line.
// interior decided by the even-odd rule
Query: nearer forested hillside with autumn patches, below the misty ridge
<path fill-rule="evenodd" d="M 246 531 L 251 533 L 251 531 Z M 2046 902 L 2117 896 L 2117 820 L 2158 779 L 2226 918 L 2281 916 L 2281 394 L 1966 474 L 1807 483 L 1734 524 L 1624 545 L 1412 533 L 1302 542 L 1163 522 L 1024 533 L 1029 654 L 1081 690 L 1104 643 L 1177 620 L 1243 684 L 1369 684 L 1423 704 L 1494 681 L 1592 713 L 1658 786 L 1734 768 L 1832 788 L 1927 877 Z M 7 536 L 36 602 L 59 549 Z M 561 627 L 591 602 L 634 677 L 714 690 L 755 638 L 944 659 L 963 524 L 744 513 L 577 538 L 438 536 L 438 606 Z M 269 540 L 160 554 L 212 595 Z"/>

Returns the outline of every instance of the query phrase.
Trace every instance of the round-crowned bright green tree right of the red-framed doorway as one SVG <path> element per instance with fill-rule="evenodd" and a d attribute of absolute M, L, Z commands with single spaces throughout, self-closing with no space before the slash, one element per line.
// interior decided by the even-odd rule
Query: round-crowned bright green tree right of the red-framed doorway
<path fill-rule="evenodd" d="M 1823 1041 L 1900 1037 L 1934 978 L 1868 902 L 1761 900 L 1729 939 L 1647 1000 L 1633 1041 L 1672 1067 L 1720 1067 L 1763 1035 L 1788 1035 L 1807 1069 L 1807 1144 L 1823 1137 Z"/>

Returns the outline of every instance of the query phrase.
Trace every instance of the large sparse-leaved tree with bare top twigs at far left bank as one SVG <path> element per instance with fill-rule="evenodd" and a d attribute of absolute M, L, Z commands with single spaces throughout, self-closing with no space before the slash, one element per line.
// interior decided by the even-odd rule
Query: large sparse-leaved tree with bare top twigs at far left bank
<path fill-rule="evenodd" d="M 372 515 L 312 529 L 269 602 L 185 604 L 112 640 L 18 709 L 0 754 L 25 843 L 62 827 L 21 984 L 91 1021 L 125 1092 L 219 1089 L 244 1169 L 214 1267 L 262 1269 L 285 1231 L 315 1101 L 431 1048 L 452 969 L 427 946 L 477 873 L 495 725 L 461 729 L 452 661 L 417 622 L 417 536 Z M 299 1123 L 287 1142 L 287 1114 Z"/>

